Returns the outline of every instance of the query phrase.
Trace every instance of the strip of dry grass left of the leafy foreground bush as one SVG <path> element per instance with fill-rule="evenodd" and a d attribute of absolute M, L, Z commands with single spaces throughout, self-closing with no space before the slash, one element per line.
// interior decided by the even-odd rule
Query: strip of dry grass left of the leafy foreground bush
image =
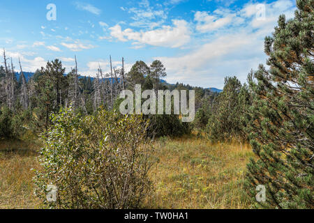
<path fill-rule="evenodd" d="M 38 145 L 25 141 L 0 141 L 0 208 L 36 208 L 33 171 L 38 167 Z"/>

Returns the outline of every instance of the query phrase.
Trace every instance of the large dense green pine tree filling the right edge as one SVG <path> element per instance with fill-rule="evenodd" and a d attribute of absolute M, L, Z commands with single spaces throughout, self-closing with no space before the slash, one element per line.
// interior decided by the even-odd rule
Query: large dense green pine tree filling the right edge
<path fill-rule="evenodd" d="M 265 38 L 269 70 L 260 66 L 248 132 L 257 160 L 248 164 L 248 187 L 266 187 L 266 208 L 314 208 L 314 1 L 297 1 L 292 20 L 281 15 Z"/>

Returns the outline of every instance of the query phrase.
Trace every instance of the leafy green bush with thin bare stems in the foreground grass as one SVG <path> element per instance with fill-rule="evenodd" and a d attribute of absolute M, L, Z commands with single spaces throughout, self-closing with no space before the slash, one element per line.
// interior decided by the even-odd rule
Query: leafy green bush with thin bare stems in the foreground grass
<path fill-rule="evenodd" d="M 138 208 L 151 191 L 154 163 L 142 116 L 98 110 L 77 116 L 72 108 L 52 115 L 41 149 L 43 169 L 34 178 L 36 194 L 49 208 Z M 47 202 L 47 185 L 57 201 Z"/>

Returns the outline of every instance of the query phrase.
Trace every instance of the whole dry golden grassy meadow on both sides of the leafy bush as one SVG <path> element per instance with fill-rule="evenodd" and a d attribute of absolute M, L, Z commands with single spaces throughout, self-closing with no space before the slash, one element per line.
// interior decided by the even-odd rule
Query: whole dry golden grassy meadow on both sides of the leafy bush
<path fill-rule="evenodd" d="M 33 171 L 40 144 L 0 143 L 0 208 L 40 208 L 33 194 Z M 250 208 L 243 190 L 251 147 L 210 144 L 206 139 L 158 139 L 158 163 L 150 177 L 154 194 L 144 208 Z"/>

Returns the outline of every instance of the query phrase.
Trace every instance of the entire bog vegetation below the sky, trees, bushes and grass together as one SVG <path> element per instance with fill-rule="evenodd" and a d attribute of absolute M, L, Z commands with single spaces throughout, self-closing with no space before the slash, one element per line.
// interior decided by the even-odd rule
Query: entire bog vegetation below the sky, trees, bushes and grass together
<path fill-rule="evenodd" d="M 313 7 L 298 0 L 294 19 L 279 17 L 268 68 L 247 83 L 226 77 L 221 93 L 162 82 L 160 61 L 91 78 L 76 58 L 66 75 L 56 59 L 27 79 L 3 50 L 0 207 L 313 208 Z M 135 84 L 195 90 L 195 120 L 119 114 L 119 93 Z"/>

